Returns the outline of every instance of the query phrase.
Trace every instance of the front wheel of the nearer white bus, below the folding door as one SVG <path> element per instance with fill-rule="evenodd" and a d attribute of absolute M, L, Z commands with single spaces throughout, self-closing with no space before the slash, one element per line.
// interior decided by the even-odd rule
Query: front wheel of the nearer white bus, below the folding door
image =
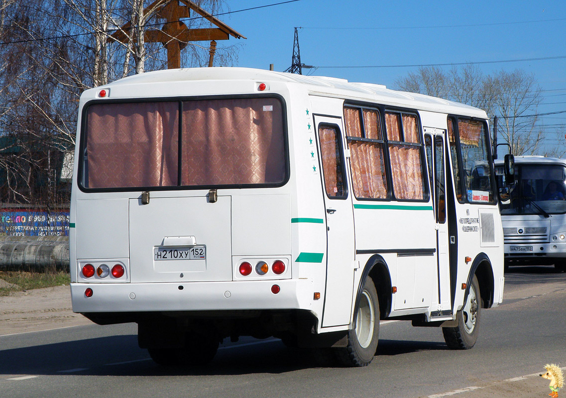
<path fill-rule="evenodd" d="M 478 339 L 481 323 L 482 297 L 479 294 L 478 278 L 471 280 L 470 291 L 464 307 L 457 312 L 458 326 L 443 327 L 444 341 L 450 349 L 470 349 Z"/>

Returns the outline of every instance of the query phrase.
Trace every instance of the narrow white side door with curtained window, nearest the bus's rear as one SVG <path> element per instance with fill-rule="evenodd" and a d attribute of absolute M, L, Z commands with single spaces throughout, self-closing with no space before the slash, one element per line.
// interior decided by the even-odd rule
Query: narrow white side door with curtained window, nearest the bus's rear
<path fill-rule="evenodd" d="M 345 168 L 342 119 L 315 116 L 327 224 L 323 327 L 350 323 L 354 279 L 354 214 Z"/>

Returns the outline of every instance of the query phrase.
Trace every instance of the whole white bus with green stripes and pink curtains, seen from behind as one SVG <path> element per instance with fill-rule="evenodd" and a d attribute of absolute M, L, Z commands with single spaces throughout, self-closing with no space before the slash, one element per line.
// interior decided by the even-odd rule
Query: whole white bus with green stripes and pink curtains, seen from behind
<path fill-rule="evenodd" d="M 380 319 L 440 326 L 466 349 L 503 297 L 484 111 L 195 68 L 85 91 L 77 142 L 73 310 L 137 322 L 159 364 L 249 335 L 363 366 Z"/>

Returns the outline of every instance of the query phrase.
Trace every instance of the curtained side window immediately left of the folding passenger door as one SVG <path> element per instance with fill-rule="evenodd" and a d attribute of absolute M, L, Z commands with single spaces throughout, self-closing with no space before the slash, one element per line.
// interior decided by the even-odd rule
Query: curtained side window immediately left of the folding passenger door
<path fill-rule="evenodd" d="M 420 142 L 417 117 L 403 115 L 403 136 L 400 134 L 400 114 L 385 114 L 389 141 Z M 393 192 L 397 199 L 422 200 L 423 176 L 421 150 L 416 146 L 389 144 L 389 159 L 393 175 Z"/>

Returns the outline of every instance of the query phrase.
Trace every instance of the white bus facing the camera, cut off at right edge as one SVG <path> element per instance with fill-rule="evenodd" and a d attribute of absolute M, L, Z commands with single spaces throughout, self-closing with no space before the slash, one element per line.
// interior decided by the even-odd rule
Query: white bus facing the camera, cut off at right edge
<path fill-rule="evenodd" d="M 496 161 L 499 182 L 503 167 Z M 566 270 L 566 160 L 515 157 L 516 183 L 501 201 L 505 265 L 554 264 Z"/>

